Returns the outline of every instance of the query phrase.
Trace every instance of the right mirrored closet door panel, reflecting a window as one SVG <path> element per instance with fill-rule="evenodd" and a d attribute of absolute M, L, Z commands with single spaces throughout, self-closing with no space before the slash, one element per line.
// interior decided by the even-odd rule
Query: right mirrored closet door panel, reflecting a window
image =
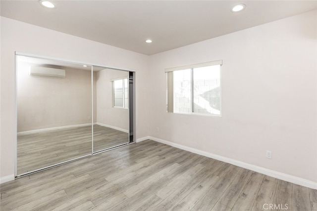
<path fill-rule="evenodd" d="M 94 66 L 94 152 L 129 142 L 128 76 L 128 71 L 95 71 Z"/>

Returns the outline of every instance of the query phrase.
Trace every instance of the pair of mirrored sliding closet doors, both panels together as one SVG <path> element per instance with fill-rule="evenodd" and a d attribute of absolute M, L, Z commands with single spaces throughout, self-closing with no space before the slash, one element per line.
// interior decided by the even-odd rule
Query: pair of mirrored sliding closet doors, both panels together
<path fill-rule="evenodd" d="M 129 143 L 128 75 L 16 55 L 16 176 Z"/>

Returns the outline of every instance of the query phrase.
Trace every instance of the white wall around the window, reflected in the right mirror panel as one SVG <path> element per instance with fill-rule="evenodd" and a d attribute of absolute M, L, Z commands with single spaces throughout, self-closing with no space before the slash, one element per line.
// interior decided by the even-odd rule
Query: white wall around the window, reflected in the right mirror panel
<path fill-rule="evenodd" d="M 113 107 L 112 81 L 120 77 L 128 77 L 129 72 L 105 69 L 96 72 L 97 90 L 97 123 L 129 129 L 129 110 Z"/>

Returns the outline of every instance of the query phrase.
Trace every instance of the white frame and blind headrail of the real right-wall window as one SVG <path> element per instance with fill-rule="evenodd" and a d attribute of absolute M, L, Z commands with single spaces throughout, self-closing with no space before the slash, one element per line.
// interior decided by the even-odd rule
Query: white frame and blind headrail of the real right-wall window
<path fill-rule="evenodd" d="M 199 67 L 207 67 L 207 66 L 213 66 L 213 65 L 219 65 L 219 71 L 220 71 L 220 114 L 207 114 L 207 113 L 198 113 L 193 111 L 193 104 L 194 104 L 194 81 L 193 81 L 193 69 L 199 68 Z M 222 67 L 222 60 L 217 60 L 217 61 L 212 61 L 212 62 L 205 62 L 205 63 L 200 63 L 200 64 L 193 64 L 193 65 L 187 65 L 187 66 L 181 66 L 181 67 L 174 67 L 174 68 L 167 68 L 165 69 L 166 77 L 167 77 L 167 95 L 166 95 L 166 100 L 167 100 L 167 112 L 168 113 L 174 113 L 174 114 L 186 114 L 186 115 L 197 115 L 197 116 L 213 116 L 213 117 L 221 117 L 222 116 L 222 90 L 221 90 L 221 85 L 222 85 L 222 79 L 221 79 L 221 67 Z M 174 111 L 174 84 L 173 84 L 173 71 L 178 71 L 178 70 L 186 70 L 190 69 L 191 70 L 191 103 L 190 103 L 190 112 L 189 113 L 183 113 L 183 112 L 175 112 Z"/>

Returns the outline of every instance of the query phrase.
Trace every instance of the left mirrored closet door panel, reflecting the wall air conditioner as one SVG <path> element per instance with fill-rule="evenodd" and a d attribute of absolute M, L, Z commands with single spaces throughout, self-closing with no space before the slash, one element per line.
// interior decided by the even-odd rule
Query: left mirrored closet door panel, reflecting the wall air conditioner
<path fill-rule="evenodd" d="M 17 175 L 92 154 L 91 66 L 17 55 L 16 71 Z"/>

